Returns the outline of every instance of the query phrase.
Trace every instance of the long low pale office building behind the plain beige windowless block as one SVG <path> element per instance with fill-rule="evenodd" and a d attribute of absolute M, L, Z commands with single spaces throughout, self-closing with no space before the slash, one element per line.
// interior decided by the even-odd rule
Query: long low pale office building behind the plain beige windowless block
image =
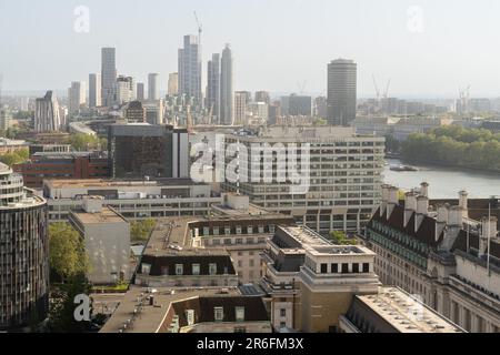
<path fill-rule="evenodd" d="M 210 185 L 188 179 L 163 180 L 46 180 L 43 195 L 50 222 L 62 222 L 71 210 L 82 206 L 82 196 L 102 196 L 128 220 L 203 216 L 221 197 Z"/>

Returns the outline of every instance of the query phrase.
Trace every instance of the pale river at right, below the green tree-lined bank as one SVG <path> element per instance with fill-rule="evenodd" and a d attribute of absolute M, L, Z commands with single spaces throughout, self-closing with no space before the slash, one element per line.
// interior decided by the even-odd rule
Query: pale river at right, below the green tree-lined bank
<path fill-rule="evenodd" d="M 387 184 L 410 190 L 420 186 L 421 182 L 428 182 L 431 199 L 458 199 L 461 190 L 467 190 L 471 199 L 500 196 L 500 173 L 421 164 L 412 164 L 418 168 L 417 172 L 396 172 L 390 166 L 404 163 L 397 159 L 388 159 L 387 162 Z"/>

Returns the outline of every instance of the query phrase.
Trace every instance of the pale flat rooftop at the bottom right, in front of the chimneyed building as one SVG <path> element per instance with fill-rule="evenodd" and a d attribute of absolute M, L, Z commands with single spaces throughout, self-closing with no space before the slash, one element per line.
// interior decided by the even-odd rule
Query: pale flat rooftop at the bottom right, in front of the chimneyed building
<path fill-rule="evenodd" d="M 397 287 L 381 287 L 377 295 L 357 295 L 356 298 L 401 333 L 462 333 L 423 303 Z"/>

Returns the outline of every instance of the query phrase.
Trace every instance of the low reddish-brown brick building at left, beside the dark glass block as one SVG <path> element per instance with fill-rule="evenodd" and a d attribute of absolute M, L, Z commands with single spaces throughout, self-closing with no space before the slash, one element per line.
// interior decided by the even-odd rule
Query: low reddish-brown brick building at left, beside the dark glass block
<path fill-rule="evenodd" d="M 38 152 L 13 170 L 31 189 L 41 189 L 46 179 L 100 179 L 109 176 L 109 160 L 101 152 Z"/>

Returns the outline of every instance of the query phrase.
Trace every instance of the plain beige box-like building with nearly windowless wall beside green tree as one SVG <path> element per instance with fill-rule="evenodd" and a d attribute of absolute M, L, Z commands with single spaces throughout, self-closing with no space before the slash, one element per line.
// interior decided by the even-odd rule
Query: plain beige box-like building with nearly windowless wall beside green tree
<path fill-rule="evenodd" d="M 86 196 L 82 210 L 72 211 L 69 222 L 83 240 L 92 265 L 87 277 L 92 284 L 130 281 L 129 221 L 112 207 L 103 206 L 101 196 Z"/>

